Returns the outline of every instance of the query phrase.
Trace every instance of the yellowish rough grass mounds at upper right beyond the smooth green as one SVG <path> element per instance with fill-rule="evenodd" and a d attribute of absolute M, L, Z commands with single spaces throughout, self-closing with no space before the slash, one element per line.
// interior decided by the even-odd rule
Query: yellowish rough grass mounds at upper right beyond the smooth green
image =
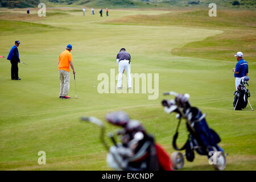
<path fill-rule="evenodd" d="M 134 15 L 109 20 L 110 24 L 144 24 L 146 26 L 188 26 L 223 30 L 220 35 L 184 47 L 172 49 L 178 56 L 201 57 L 217 60 L 234 60 L 234 53 L 242 51 L 246 60 L 256 61 L 256 12 L 249 10 L 218 10 L 217 17 L 208 11 L 168 13 L 162 15 Z M 236 61 L 236 60 L 234 60 Z"/>

